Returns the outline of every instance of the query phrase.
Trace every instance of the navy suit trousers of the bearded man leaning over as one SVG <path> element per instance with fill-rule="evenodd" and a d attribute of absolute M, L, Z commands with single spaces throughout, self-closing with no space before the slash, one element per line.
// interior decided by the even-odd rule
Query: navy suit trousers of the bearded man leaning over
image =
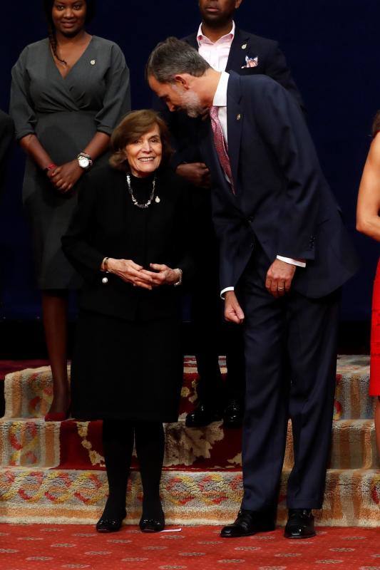
<path fill-rule="evenodd" d="M 287 505 L 320 509 L 332 437 L 340 290 L 309 299 L 293 289 L 275 299 L 265 289 L 270 264 L 256 242 L 237 288 L 245 311 L 242 508 L 277 505 L 291 418 Z M 294 279 L 297 271 L 307 269 L 297 268 Z"/>

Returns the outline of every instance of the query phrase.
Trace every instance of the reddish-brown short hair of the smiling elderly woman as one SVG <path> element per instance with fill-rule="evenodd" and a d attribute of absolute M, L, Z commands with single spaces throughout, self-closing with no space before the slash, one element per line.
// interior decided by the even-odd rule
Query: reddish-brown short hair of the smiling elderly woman
<path fill-rule="evenodd" d="M 158 125 L 160 130 L 161 143 L 163 145 L 163 159 L 161 164 L 165 164 L 173 155 L 170 146 L 170 134 L 168 125 L 160 118 L 160 115 L 153 109 L 142 109 L 131 111 L 125 115 L 111 135 L 111 158 L 110 165 L 118 170 L 128 170 L 128 162 L 125 158 L 125 147 L 134 140 L 138 140 L 142 135 L 148 133 Z"/>

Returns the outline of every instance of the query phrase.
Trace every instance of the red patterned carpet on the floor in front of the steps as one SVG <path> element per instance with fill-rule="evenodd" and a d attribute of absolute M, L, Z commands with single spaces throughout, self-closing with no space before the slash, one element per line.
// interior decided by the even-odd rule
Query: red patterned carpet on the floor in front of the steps
<path fill-rule="evenodd" d="M 142 534 L 123 527 L 98 534 L 78 525 L 0 524 L 1 570 L 380 570 L 380 530 L 320 528 L 309 540 L 282 529 L 220 539 L 216 527 Z"/>

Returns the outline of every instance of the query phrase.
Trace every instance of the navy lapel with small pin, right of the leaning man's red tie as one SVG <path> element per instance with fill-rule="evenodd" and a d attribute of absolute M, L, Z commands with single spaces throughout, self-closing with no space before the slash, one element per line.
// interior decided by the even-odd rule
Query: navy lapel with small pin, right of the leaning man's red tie
<path fill-rule="evenodd" d="M 227 137 L 228 156 L 230 157 L 232 178 L 235 184 L 235 192 L 239 192 L 237 174 L 240 157 L 240 141 L 242 138 L 242 123 L 244 115 L 240 105 L 240 77 L 237 73 L 230 73 L 227 88 Z"/>

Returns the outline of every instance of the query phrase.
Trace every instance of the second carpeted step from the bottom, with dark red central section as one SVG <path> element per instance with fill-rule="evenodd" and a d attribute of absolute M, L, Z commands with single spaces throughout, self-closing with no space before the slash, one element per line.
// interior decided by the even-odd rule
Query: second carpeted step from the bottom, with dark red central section
<path fill-rule="evenodd" d="M 164 465 L 168 469 L 236 470 L 242 465 L 241 430 L 224 430 L 222 422 L 189 428 L 184 420 L 165 425 Z M 104 467 L 102 423 L 0 420 L 0 465 L 93 470 Z M 293 464 L 289 424 L 284 467 Z M 338 420 L 333 424 L 332 469 L 375 469 L 373 420 Z"/>

